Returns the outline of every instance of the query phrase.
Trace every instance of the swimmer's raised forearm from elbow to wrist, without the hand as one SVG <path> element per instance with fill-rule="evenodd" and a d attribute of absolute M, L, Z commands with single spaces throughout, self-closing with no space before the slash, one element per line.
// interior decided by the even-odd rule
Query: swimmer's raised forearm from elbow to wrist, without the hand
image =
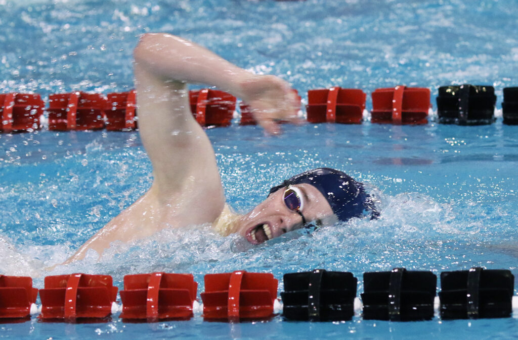
<path fill-rule="evenodd" d="M 254 76 L 193 42 L 162 33 L 143 35 L 134 57 L 139 67 L 165 82 L 207 84 L 237 97 Z"/>

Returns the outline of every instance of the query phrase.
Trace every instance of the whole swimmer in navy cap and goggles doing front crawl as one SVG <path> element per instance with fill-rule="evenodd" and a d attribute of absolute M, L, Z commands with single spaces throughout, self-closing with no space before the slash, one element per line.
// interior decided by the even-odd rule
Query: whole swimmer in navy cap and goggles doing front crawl
<path fill-rule="evenodd" d="M 241 98 L 269 134 L 280 133 L 280 120 L 299 122 L 290 86 L 168 34 L 143 35 L 134 57 L 139 132 L 153 166 L 153 183 L 67 262 L 82 259 L 90 249 L 100 256 L 111 242 L 133 242 L 164 228 L 210 223 L 222 235 L 239 233 L 260 244 L 310 222 L 330 225 L 365 211 L 375 215 L 362 183 L 329 168 L 294 176 L 272 188 L 248 214 L 233 213 L 225 204 L 210 141 L 191 114 L 186 84 L 216 86 Z"/>

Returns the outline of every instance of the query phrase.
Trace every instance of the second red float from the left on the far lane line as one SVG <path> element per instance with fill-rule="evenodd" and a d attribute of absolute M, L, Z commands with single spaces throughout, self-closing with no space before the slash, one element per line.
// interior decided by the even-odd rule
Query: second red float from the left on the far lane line
<path fill-rule="evenodd" d="M 100 94 L 72 92 L 49 96 L 49 130 L 104 128 L 106 101 Z"/>

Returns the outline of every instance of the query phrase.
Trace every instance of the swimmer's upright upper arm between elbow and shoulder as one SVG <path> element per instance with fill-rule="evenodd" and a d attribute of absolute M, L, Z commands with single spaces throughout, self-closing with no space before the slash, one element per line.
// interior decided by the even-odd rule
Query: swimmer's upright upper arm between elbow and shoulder
<path fill-rule="evenodd" d="M 163 202 L 176 198 L 194 203 L 198 195 L 210 194 L 223 205 L 214 152 L 191 114 L 186 84 L 174 74 L 163 76 L 163 66 L 153 65 L 152 59 L 142 59 L 149 52 L 141 51 L 146 43 L 141 41 L 135 50 L 134 68 L 139 131 L 153 165 L 153 189 Z"/>

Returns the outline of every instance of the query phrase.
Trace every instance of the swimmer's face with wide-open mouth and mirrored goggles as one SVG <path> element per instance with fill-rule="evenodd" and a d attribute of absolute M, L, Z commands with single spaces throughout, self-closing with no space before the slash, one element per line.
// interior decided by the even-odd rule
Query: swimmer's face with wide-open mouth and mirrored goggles
<path fill-rule="evenodd" d="M 286 189 L 291 191 L 286 193 Z M 287 197 L 292 195 L 290 197 Z M 286 196 L 286 199 L 285 199 Z M 299 209 L 293 205 L 295 196 L 300 200 Z M 271 193 L 261 204 L 244 215 L 238 233 L 252 244 L 260 244 L 289 231 L 304 227 L 307 223 L 330 225 L 338 221 L 325 197 L 311 184 L 295 184 Z"/>

